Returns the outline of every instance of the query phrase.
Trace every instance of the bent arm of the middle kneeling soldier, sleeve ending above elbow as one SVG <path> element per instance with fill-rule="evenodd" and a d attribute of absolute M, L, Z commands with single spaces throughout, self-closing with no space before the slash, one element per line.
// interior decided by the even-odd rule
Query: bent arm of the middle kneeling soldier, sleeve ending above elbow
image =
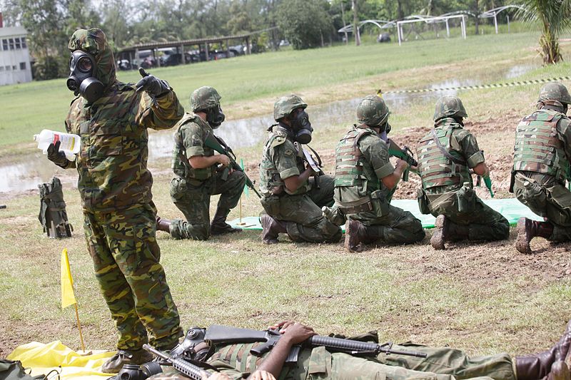
<path fill-rule="evenodd" d="M 358 147 L 365 159 L 373 166 L 377 178 L 383 182 L 383 185 L 388 189 L 395 188 L 408 164 L 403 160 L 398 160 L 395 168 L 389 160 L 387 143 L 375 136 L 363 136 L 358 141 Z"/>

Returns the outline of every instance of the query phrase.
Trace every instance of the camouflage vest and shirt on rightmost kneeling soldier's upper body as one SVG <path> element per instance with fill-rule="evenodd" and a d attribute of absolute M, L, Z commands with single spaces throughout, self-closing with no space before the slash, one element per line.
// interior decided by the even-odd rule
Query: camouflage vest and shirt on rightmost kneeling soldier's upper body
<path fill-rule="evenodd" d="M 550 120 L 547 119 L 550 119 L 553 125 L 548 125 Z M 541 126 L 534 125 L 537 123 L 545 124 L 547 130 L 542 133 L 539 130 Z M 532 133 L 534 130 L 536 132 Z M 549 134 L 548 143 L 535 141 L 545 134 Z M 542 145 L 546 145 L 545 148 L 541 148 Z M 541 149 L 547 151 L 542 154 L 539 151 Z M 551 110 L 549 107 L 535 111 L 523 118 L 517 126 L 515 150 L 513 166 L 515 172 L 520 171 L 526 177 L 547 187 L 556 183 L 565 185 L 565 179 L 571 179 L 568 169 L 571 160 L 571 119 L 565 113 Z"/>

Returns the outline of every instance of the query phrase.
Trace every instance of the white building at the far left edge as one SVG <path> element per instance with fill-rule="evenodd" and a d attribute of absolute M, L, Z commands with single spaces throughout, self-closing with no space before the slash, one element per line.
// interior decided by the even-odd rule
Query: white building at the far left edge
<path fill-rule="evenodd" d="M 31 81 L 27 34 L 21 26 L 0 28 L 0 86 Z"/>

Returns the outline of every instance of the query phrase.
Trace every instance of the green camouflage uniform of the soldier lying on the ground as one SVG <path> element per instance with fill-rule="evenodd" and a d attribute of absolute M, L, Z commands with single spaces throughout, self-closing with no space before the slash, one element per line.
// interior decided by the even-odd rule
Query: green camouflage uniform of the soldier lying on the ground
<path fill-rule="evenodd" d="M 215 366 L 231 379 L 245 379 L 263 361 L 263 357 L 250 354 L 251 347 L 256 345 L 258 344 L 231 344 L 218 347 L 207 363 Z M 324 347 L 315 347 L 314 349 L 302 349 L 298 363 L 293 366 L 283 366 L 278 379 L 515 380 L 512 359 L 508 354 L 470 358 L 458 349 L 432 348 L 414 344 L 393 345 L 393 349 L 414 349 L 428 356 L 416 358 L 379 354 L 376 358 L 365 358 L 343 353 L 330 353 Z M 208 372 L 212 373 L 212 370 Z M 166 369 L 163 374 L 149 378 L 149 380 L 167 379 L 187 378 L 176 373 L 176 370 L 172 368 Z"/>

